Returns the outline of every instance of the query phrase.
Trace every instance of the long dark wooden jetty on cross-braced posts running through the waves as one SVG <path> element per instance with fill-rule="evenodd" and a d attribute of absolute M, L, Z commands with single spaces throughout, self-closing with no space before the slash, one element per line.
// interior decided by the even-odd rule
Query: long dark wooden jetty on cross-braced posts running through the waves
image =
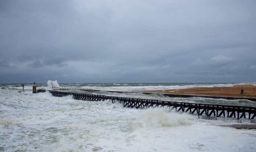
<path fill-rule="evenodd" d="M 233 106 L 233 105 L 209 105 L 209 104 L 197 104 L 197 103 L 185 103 L 185 102 L 172 102 L 172 101 L 161 101 L 161 100 L 151 100 L 151 99 L 140 99 L 140 98 L 124 98 L 106 95 L 92 95 L 83 93 L 73 93 L 73 92 L 60 92 L 54 90 L 48 90 L 53 96 L 63 97 L 68 95 L 73 95 L 76 100 L 85 101 L 104 101 L 111 100 L 112 102 L 119 101 L 123 102 L 123 107 L 128 108 L 156 108 L 162 107 L 169 109 L 171 112 L 189 112 L 190 114 L 197 113 L 198 116 L 214 116 L 214 117 L 233 117 L 236 119 L 248 118 L 256 119 L 256 107 L 247 106 Z M 46 92 L 46 90 L 38 89 L 37 93 Z"/>

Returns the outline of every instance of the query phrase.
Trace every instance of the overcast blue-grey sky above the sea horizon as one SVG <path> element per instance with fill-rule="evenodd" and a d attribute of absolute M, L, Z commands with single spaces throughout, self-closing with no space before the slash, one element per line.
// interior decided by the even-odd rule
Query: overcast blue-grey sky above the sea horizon
<path fill-rule="evenodd" d="M 0 83 L 256 82 L 255 8 L 255 0 L 0 0 Z"/>

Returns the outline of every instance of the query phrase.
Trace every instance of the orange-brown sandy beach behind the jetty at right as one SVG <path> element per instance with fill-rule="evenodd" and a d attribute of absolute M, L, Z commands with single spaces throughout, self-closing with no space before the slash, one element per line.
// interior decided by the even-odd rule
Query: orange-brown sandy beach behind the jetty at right
<path fill-rule="evenodd" d="M 241 94 L 242 87 L 244 89 L 244 94 Z M 136 90 L 133 92 L 256 98 L 255 85 L 234 85 L 233 87 L 199 87 L 165 90 Z"/>

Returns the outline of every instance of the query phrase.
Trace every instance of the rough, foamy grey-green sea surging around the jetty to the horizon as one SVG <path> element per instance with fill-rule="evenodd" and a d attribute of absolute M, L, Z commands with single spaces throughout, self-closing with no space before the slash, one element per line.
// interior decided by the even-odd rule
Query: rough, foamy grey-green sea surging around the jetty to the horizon
<path fill-rule="evenodd" d="M 57 82 L 56 82 L 57 83 Z M 256 83 L 240 83 L 253 84 Z M 0 151 L 255 151 L 256 130 L 223 127 L 247 119 L 200 119 L 163 109 L 131 109 L 111 101 L 74 100 L 50 93 L 32 94 L 32 84 L 0 84 Z M 106 90 L 233 86 L 234 83 L 66 83 L 63 88 L 133 98 L 256 106 L 248 100 L 170 98 L 161 94 L 119 94 Z M 37 89 L 51 89 L 47 83 Z M 104 91 L 105 90 L 105 91 Z"/>

